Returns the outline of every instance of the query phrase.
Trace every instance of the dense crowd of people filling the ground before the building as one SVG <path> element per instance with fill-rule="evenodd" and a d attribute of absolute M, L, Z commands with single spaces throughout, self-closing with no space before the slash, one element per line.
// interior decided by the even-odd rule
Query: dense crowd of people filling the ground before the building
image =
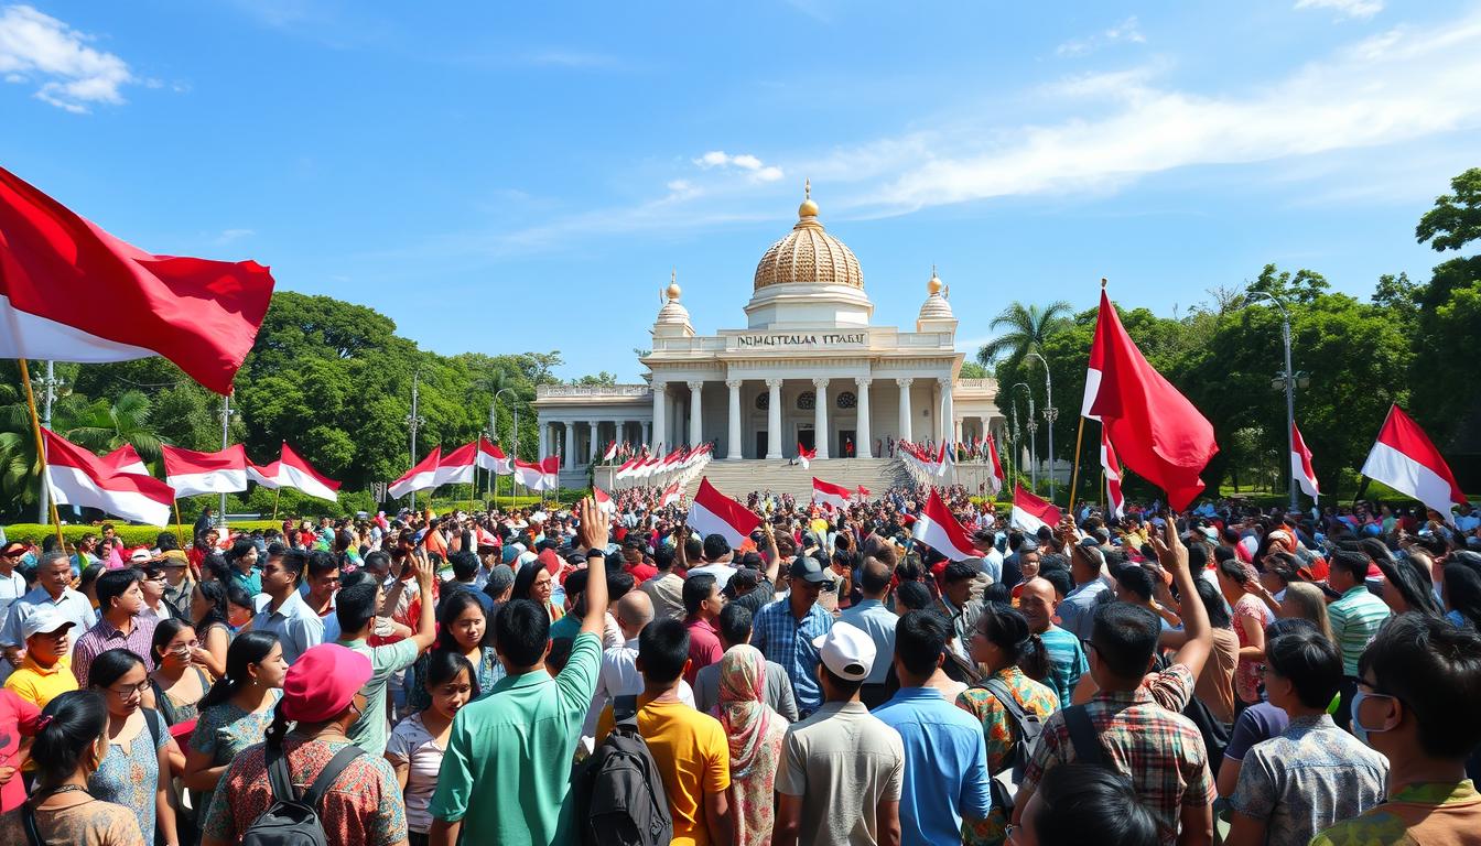
<path fill-rule="evenodd" d="M 1481 842 L 1469 507 L 937 492 L 6 542 L 0 843 Z"/>

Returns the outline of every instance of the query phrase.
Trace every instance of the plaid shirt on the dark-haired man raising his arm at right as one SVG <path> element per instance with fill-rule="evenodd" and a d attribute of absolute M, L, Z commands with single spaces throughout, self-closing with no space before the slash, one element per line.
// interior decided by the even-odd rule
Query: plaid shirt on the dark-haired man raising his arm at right
<path fill-rule="evenodd" d="M 1177 840 L 1183 807 L 1214 800 L 1203 735 L 1177 713 L 1188 705 L 1192 690 L 1192 673 L 1174 664 L 1149 685 L 1130 692 L 1102 690 L 1086 704 L 1106 763 L 1131 778 L 1167 845 Z M 1047 769 L 1074 760 L 1075 745 L 1060 711 L 1044 725 L 1038 748 L 1023 770 L 1022 788 L 1037 788 Z"/>

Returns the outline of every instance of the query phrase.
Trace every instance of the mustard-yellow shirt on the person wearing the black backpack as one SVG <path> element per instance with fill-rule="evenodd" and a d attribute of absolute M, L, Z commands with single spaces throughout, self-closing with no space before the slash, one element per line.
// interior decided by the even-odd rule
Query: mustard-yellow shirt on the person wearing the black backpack
<path fill-rule="evenodd" d="M 597 720 L 597 744 L 612 733 L 612 707 Z M 668 810 L 674 816 L 672 846 L 709 846 L 705 794 L 730 787 L 730 744 L 720 720 L 674 701 L 638 696 L 638 733 L 647 741 L 663 775 Z"/>

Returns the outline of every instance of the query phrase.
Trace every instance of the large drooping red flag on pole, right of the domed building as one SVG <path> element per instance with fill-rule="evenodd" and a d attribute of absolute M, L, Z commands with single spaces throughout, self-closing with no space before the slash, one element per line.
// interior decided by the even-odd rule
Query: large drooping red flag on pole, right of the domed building
<path fill-rule="evenodd" d="M 1219 452 L 1213 424 L 1146 363 L 1103 287 L 1090 360 L 1100 364 L 1099 385 L 1083 410 L 1100 418 L 1121 464 L 1166 490 L 1169 505 L 1186 508 L 1204 489 L 1198 474 Z M 1087 393 L 1090 381 L 1087 373 Z"/>

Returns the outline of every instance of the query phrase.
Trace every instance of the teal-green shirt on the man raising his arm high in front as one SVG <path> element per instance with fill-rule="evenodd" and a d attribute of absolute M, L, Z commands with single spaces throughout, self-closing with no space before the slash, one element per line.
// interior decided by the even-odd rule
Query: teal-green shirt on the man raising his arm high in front
<path fill-rule="evenodd" d="M 578 843 L 570 766 L 597 692 L 601 639 L 581 633 L 566 668 L 507 676 L 453 719 L 431 813 L 462 843 Z"/>

